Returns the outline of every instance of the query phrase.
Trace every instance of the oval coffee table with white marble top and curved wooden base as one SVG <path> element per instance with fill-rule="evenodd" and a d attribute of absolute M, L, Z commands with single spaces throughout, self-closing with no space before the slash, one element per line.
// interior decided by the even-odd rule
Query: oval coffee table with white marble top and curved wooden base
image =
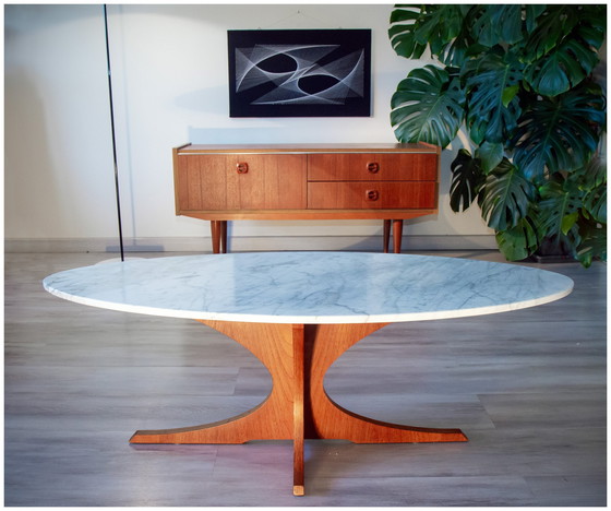
<path fill-rule="evenodd" d="M 259 406 L 217 423 L 136 431 L 130 442 L 292 440 L 298 496 L 304 494 L 306 439 L 467 440 L 459 429 L 383 423 L 336 404 L 323 380 L 346 349 L 388 323 L 511 311 L 560 299 L 573 288 L 566 276 L 517 264 L 362 252 L 139 259 L 56 273 L 43 284 L 88 306 L 194 319 L 252 352 L 273 380 Z"/>

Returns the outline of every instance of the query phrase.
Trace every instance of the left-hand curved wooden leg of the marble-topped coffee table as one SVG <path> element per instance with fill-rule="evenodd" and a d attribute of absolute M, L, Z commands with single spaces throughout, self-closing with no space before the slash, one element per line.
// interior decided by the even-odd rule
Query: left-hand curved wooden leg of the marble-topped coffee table
<path fill-rule="evenodd" d="M 272 373 L 267 399 L 244 414 L 187 428 L 141 430 L 131 443 L 244 443 L 293 438 L 292 325 L 201 321 L 251 350 Z"/>

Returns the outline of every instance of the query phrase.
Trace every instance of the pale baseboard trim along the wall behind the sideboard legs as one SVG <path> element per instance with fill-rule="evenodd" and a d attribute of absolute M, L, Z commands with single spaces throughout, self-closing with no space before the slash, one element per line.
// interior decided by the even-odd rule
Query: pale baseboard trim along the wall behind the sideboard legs
<path fill-rule="evenodd" d="M 209 237 L 131 238 L 123 241 L 125 252 L 211 252 Z M 232 237 L 235 252 L 273 250 L 354 250 L 379 251 L 381 236 L 261 236 Z M 404 236 L 403 251 L 496 250 L 494 236 Z M 119 252 L 116 238 L 5 239 L 4 252 Z"/>

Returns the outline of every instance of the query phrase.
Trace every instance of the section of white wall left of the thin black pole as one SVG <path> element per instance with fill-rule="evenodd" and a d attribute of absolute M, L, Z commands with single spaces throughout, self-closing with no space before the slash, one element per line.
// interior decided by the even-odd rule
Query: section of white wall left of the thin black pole
<path fill-rule="evenodd" d="M 5 236 L 112 236 L 99 8 L 8 5 L 4 34 Z"/>

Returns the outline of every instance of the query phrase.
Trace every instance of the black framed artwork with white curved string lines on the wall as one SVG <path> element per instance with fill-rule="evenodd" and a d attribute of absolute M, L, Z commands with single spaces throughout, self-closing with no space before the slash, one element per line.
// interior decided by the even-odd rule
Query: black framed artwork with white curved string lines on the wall
<path fill-rule="evenodd" d="M 371 31 L 228 31 L 230 117 L 371 116 Z"/>

